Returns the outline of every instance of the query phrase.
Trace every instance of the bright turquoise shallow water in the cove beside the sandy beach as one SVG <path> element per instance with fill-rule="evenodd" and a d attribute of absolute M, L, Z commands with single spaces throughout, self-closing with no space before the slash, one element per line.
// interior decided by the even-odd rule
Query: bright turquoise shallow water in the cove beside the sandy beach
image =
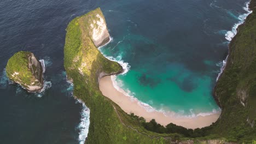
<path fill-rule="evenodd" d="M 152 43 L 141 35 L 132 35 L 126 39 Z M 127 52 L 132 53 L 132 44 L 127 44 L 124 41 L 125 39 L 121 42 L 118 41 L 116 45 L 113 41 L 113 44 L 110 43 L 100 50 L 104 55 L 110 56 L 112 51 L 119 49 L 121 52 L 118 53 L 115 60 L 122 61 L 123 57 L 129 55 Z M 178 116 L 195 116 L 199 113 L 207 114 L 220 111 L 212 97 L 212 83 L 216 77 L 196 74 L 178 62 L 159 62 L 163 63 L 159 65 L 153 63 L 158 63 L 157 57 L 153 57 L 148 62 L 145 59 L 144 63 L 138 63 L 139 68 L 133 68 L 133 65 L 129 64 L 126 67 L 129 71 L 116 77 L 117 86 L 142 103 L 152 106 L 146 107 L 148 111 L 153 109 L 162 112 L 174 111 Z M 209 67 L 216 66 L 216 63 L 212 61 L 206 60 L 203 63 Z M 162 67 L 159 67 L 160 65 Z M 160 69 L 163 71 L 159 71 Z M 218 74 L 218 69 L 213 70 L 212 74 Z"/>

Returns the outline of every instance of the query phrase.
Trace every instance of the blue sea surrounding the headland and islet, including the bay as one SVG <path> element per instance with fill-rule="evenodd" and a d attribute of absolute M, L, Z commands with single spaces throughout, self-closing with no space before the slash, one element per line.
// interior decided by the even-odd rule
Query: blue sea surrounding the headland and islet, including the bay
<path fill-rule="evenodd" d="M 238 16 L 246 13 L 242 9 L 245 2 L 0 1 L 0 143 L 80 142 L 79 124 L 84 106 L 72 97 L 72 86 L 66 82 L 65 29 L 74 17 L 97 7 L 101 7 L 113 37 L 112 43 L 102 48 L 103 53 L 121 58 L 131 66 L 126 76 L 133 77 L 133 81 L 118 77 L 124 83 L 123 88 L 156 109 L 164 105 L 173 111 L 184 110 L 186 114 L 190 108 L 199 113 L 202 107 L 213 105 L 203 112 L 211 111 L 217 107 L 211 91 L 219 73 L 218 63 L 228 51 L 225 34 L 240 21 Z M 51 87 L 40 95 L 9 84 L 4 76 L 8 59 L 21 50 L 31 51 L 48 63 L 44 76 Z M 141 91 L 133 87 L 134 81 L 143 87 Z M 176 103 L 171 101 L 173 95 L 164 95 L 166 89 L 157 89 L 165 97 L 150 95 L 156 93 L 156 87 L 168 86 L 164 84 L 170 84 L 169 81 L 178 89 L 173 86 L 172 91 L 187 95 L 174 95 L 183 97 Z M 209 103 L 193 107 L 194 102 L 185 100 L 195 98 L 189 92 L 201 86 L 202 81 L 206 85 L 196 98 Z M 188 107 L 183 109 L 184 105 Z"/>

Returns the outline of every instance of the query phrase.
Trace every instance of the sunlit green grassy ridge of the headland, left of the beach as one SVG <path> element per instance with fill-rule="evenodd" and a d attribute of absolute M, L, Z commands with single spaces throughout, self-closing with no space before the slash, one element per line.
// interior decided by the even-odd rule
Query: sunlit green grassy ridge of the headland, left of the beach
<path fill-rule="evenodd" d="M 123 69 L 117 62 L 105 58 L 89 36 L 88 27 L 91 21 L 97 19 L 96 14 L 103 17 L 98 8 L 69 23 L 64 49 L 65 69 L 69 79 L 73 80 L 74 95 L 85 101 L 90 109 L 90 128 L 86 143 L 170 143 L 170 139 L 161 137 L 166 136 L 165 134 L 145 130 L 136 119 L 102 95 L 98 88 L 98 75 L 101 72 L 120 73 Z M 82 74 L 79 69 L 82 69 Z M 169 136 L 180 137 L 178 134 Z"/>

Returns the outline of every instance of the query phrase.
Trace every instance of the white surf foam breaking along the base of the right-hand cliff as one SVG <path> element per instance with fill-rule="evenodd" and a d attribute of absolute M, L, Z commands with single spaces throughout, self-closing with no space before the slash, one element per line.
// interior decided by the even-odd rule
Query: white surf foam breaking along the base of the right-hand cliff
<path fill-rule="evenodd" d="M 238 21 L 237 23 L 235 23 L 235 25 L 232 27 L 232 30 L 231 30 L 231 31 L 226 32 L 226 34 L 225 34 L 226 40 L 231 41 L 232 38 L 235 37 L 235 35 L 236 35 L 236 33 L 237 33 L 237 30 L 236 30 L 236 29 L 238 28 L 238 26 L 242 25 L 242 23 L 245 22 L 246 17 L 247 17 L 249 14 L 252 13 L 252 10 L 249 10 L 249 4 L 250 4 L 250 2 L 246 2 L 245 4 L 246 4 L 246 7 L 243 7 L 243 9 L 244 9 L 245 11 L 247 11 L 247 13 L 238 16 L 238 20 L 240 20 L 240 21 Z M 229 56 L 229 55 L 228 55 L 228 56 Z M 222 64 L 221 64 L 222 67 L 220 68 L 220 72 L 219 72 L 219 74 L 218 74 L 218 76 L 217 76 L 217 78 L 216 78 L 216 81 L 219 80 L 219 76 L 222 75 L 223 70 L 225 69 L 226 60 L 228 59 L 228 56 L 225 58 L 225 60 L 223 60 L 223 62 L 222 62 Z"/>

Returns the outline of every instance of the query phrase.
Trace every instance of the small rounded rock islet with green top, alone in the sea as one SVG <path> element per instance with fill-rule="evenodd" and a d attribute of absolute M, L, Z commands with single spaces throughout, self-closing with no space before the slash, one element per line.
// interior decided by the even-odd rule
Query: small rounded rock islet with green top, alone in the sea
<path fill-rule="evenodd" d="M 7 76 L 28 92 L 39 92 L 43 88 L 43 68 L 33 53 L 20 51 L 15 53 L 5 68 Z"/>

